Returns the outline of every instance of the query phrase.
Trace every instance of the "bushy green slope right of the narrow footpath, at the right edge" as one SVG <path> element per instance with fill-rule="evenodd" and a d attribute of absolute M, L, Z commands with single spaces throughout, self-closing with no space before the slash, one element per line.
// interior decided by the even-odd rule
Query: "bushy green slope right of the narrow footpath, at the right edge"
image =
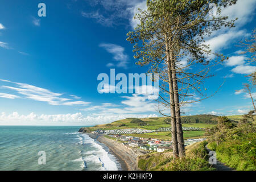
<path fill-rule="evenodd" d="M 209 130 L 209 145 L 217 159 L 237 170 L 256 170 L 256 126 L 250 122 L 232 122 L 220 117 L 218 125 Z"/>

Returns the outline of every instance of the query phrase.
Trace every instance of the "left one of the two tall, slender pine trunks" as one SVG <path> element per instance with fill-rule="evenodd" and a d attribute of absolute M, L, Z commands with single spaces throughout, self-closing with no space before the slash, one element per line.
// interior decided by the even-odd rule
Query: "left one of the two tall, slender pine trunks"
<path fill-rule="evenodd" d="M 174 102 L 174 88 L 172 83 L 172 72 L 171 72 L 171 60 L 169 55 L 169 43 L 167 35 L 165 35 L 166 40 L 166 64 L 168 67 L 168 83 L 169 83 L 169 96 L 170 96 L 170 109 L 171 109 L 171 133 L 172 133 L 172 151 L 174 152 L 174 157 L 179 156 L 179 149 L 177 146 L 177 130 L 176 130 L 176 112 L 175 112 L 175 102 Z"/>

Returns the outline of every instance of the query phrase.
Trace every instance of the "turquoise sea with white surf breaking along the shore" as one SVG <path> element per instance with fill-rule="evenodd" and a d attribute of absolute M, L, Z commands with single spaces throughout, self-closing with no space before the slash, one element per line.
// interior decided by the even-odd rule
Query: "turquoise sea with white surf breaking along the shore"
<path fill-rule="evenodd" d="M 0 170 L 118 170 L 109 148 L 79 126 L 0 126 Z M 39 151 L 46 164 L 38 164 Z"/>

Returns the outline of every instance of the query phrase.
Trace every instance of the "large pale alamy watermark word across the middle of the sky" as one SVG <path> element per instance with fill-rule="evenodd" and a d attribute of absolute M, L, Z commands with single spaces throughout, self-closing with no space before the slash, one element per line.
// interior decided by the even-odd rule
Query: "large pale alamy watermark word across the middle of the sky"
<path fill-rule="evenodd" d="M 159 75 L 157 73 L 154 76 L 151 73 L 147 75 L 146 73 L 140 75 L 129 73 L 127 79 L 125 73 L 115 75 L 115 69 L 110 69 L 110 79 L 108 74 L 100 73 L 97 80 L 101 80 L 97 87 L 98 93 L 137 93 L 157 97 L 159 93 Z M 115 83 L 115 81 L 118 82 Z"/>

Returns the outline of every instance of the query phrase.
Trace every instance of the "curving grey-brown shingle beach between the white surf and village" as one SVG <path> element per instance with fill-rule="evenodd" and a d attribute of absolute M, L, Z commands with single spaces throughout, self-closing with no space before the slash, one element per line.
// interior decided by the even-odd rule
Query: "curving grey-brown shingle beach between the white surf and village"
<path fill-rule="evenodd" d="M 122 171 L 139 170 L 137 167 L 137 155 L 132 150 L 123 146 L 123 144 L 108 139 L 102 135 L 92 133 L 82 133 L 89 135 L 90 138 L 96 139 L 98 142 L 108 146 L 110 152 L 117 158 L 121 164 Z"/>

